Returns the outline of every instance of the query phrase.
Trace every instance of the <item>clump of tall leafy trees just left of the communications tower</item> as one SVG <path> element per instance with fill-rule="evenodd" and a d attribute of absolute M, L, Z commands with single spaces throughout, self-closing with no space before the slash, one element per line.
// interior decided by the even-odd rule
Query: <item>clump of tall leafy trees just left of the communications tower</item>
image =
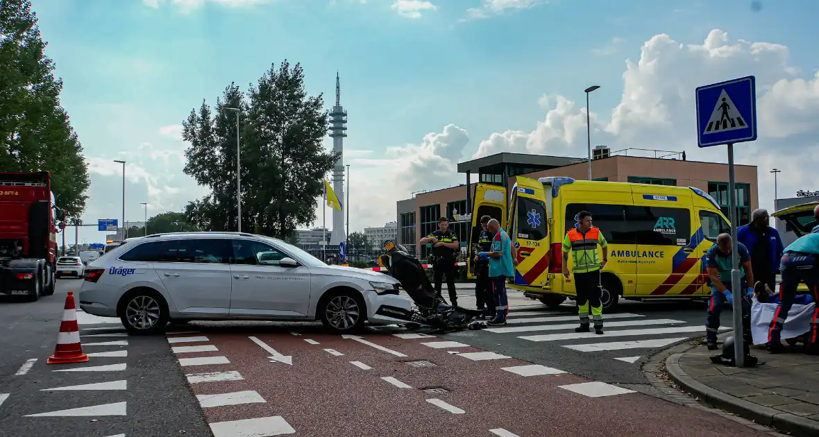
<path fill-rule="evenodd" d="M 224 103 L 223 103 L 224 101 Z M 234 231 L 236 117 L 240 117 L 242 230 L 287 239 L 315 220 L 315 200 L 339 156 L 324 150 L 328 132 L 322 95 L 308 97 L 301 65 L 285 60 L 245 94 L 231 83 L 211 115 L 206 101 L 183 121 L 185 173 L 210 193 L 185 207 L 198 227 Z M 231 111 L 226 108 L 238 108 Z M 241 120 L 244 120 L 243 122 Z"/>

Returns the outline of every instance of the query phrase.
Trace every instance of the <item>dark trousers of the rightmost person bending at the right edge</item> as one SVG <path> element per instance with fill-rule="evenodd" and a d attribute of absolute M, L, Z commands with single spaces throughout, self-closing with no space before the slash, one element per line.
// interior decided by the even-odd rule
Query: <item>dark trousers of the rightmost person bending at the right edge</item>
<path fill-rule="evenodd" d="M 794 297 L 799 294 L 799 282 L 808 286 L 808 293 L 813 297 L 815 309 L 811 317 L 810 331 L 805 344 L 808 352 L 819 354 L 819 257 L 801 252 L 786 252 L 782 255 L 779 267 L 782 273 L 782 282 L 779 288 L 779 305 L 774 312 L 771 327 L 768 329 L 768 342 L 773 347 L 781 347 L 781 331 L 788 318 L 790 308 L 794 304 Z"/>

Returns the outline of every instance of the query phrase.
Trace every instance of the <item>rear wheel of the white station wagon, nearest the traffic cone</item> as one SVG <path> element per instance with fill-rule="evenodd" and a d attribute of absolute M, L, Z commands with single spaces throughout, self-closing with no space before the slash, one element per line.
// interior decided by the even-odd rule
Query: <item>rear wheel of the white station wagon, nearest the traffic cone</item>
<path fill-rule="evenodd" d="M 150 336 L 165 331 L 168 306 L 156 291 L 138 289 L 124 296 L 120 304 L 120 320 L 134 336 Z"/>

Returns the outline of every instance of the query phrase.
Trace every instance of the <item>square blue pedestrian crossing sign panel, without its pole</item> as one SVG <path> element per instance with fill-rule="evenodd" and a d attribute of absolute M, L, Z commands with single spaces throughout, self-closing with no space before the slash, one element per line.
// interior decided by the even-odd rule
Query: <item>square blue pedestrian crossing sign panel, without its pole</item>
<path fill-rule="evenodd" d="M 700 147 L 757 139 L 756 79 L 748 76 L 696 89 Z"/>

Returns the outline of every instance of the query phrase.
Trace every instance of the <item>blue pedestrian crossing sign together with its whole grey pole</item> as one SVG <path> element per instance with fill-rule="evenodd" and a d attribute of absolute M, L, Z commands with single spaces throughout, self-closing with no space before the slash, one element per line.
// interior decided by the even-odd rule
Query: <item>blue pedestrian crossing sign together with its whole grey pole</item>
<path fill-rule="evenodd" d="M 734 300 L 734 358 L 736 367 L 744 367 L 745 349 L 742 337 L 742 300 L 747 291 L 740 282 L 740 255 L 736 241 L 736 187 L 734 178 L 734 143 L 757 139 L 756 79 L 746 76 L 712 83 L 696 89 L 697 145 L 728 146 L 728 191 L 731 209 L 731 295 Z M 749 284 L 753 287 L 753 284 Z"/>

